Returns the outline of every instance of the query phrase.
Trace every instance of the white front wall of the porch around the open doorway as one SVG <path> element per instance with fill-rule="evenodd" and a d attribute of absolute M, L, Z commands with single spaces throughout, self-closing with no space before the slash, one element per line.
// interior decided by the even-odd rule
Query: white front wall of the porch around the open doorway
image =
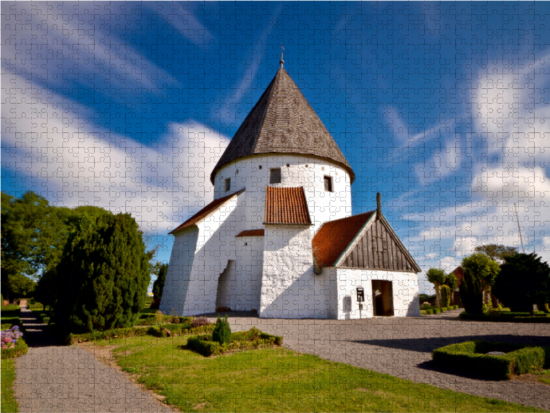
<path fill-rule="evenodd" d="M 338 284 L 337 318 L 358 319 L 360 316 L 362 318 L 373 317 L 372 282 L 377 279 L 392 282 L 395 317 L 420 315 L 416 273 L 336 268 L 336 280 Z M 364 288 L 365 301 L 361 312 L 357 301 L 357 287 Z M 349 299 L 346 297 L 351 297 L 351 307 L 347 306 L 349 305 Z"/>

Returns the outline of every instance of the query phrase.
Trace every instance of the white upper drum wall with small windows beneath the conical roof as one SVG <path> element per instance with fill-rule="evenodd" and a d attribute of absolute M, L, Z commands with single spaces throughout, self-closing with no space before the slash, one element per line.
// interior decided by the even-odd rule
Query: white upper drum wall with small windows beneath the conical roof
<path fill-rule="evenodd" d="M 272 168 L 281 168 L 280 184 L 270 184 Z M 332 177 L 332 192 L 325 191 L 325 176 Z M 231 178 L 231 187 L 230 191 L 226 192 L 225 179 L 227 178 Z M 267 185 L 304 187 L 314 231 L 323 222 L 351 215 L 351 183 L 345 169 L 330 161 L 311 156 L 255 155 L 224 165 L 214 179 L 214 199 L 239 191 L 243 187 L 246 188 L 244 197 L 239 197 L 246 205 L 246 219 L 243 222 L 237 222 L 237 232 L 263 228 Z"/>

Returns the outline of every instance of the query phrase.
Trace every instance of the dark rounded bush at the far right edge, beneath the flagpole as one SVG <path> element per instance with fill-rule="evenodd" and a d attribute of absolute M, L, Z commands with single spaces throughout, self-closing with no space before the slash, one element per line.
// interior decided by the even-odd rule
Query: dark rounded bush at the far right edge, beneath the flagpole
<path fill-rule="evenodd" d="M 531 311 L 550 299 L 550 266 L 535 253 L 509 255 L 492 292 L 512 311 Z"/>

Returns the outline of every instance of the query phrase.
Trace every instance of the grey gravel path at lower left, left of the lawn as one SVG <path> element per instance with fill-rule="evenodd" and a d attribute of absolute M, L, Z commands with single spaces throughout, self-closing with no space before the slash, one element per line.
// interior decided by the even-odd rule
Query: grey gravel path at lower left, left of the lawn
<path fill-rule="evenodd" d="M 21 309 L 29 352 L 16 361 L 19 412 L 175 412 L 84 348 L 58 343 Z"/>

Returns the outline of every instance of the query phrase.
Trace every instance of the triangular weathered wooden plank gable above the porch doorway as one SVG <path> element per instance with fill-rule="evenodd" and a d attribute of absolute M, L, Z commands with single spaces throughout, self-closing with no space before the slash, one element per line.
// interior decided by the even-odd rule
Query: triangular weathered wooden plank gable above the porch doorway
<path fill-rule="evenodd" d="M 408 253 L 382 214 L 364 226 L 336 262 L 340 268 L 406 271 L 419 273 L 421 269 Z"/>

